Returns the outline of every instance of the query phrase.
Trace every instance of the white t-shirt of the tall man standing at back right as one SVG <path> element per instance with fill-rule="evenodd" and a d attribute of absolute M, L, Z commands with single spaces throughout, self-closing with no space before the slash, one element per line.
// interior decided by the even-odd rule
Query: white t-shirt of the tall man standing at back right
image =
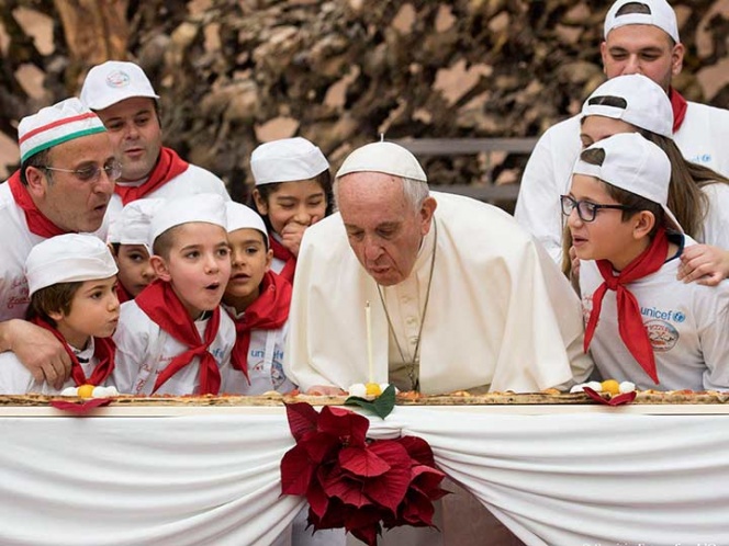
<path fill-rule="evenodd" d="M 558 123 L 539 138 L 524 170 L 514 213 L 521 227 L 531 232 L 558 263 L 562 258 L 563 225 L 559 196 L 570 191 L 572 168 L 582 150 L 581 117 L 576 115 Z M 729 111 L 689 102 L 684 122 L 673 138 L 686 159 L 729 177 L 729 153 L 726 151 Z M 727 208 L 724 212 L 715 209 L 707 224 L 714 226 L 725 221 L 717 219 L 717 213 L 719 218 L 729 214 Z M 711 226 L 707 234 L 716 234 Z M 705 236 L 702 242 L 729 249 L 729 246 L 721 244 L 724 240 Z"/>

